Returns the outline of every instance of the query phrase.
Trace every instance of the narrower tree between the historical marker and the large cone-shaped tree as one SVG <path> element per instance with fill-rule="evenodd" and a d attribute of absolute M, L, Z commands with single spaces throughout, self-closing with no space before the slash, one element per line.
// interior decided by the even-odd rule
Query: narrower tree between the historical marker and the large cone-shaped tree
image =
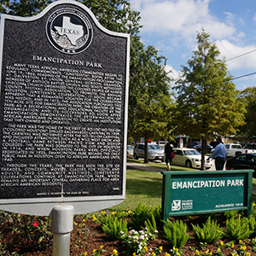
<path fill-rule="evenodd" d="M 148 138 L 166 134 L 172 98 L 169 92 L 170 78 L 162 64 L 163 56 L 153 46 L 140 52 L 141 68 L 137 78 L 137 98 L 133 134 L 144 137 L 144 162 L 148 163 Z"/>

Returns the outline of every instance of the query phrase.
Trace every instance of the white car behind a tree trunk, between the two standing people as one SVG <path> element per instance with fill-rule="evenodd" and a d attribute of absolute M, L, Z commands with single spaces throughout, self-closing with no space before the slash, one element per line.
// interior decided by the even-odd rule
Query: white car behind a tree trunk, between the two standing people
<path fill-rule="evenodd" d="M 175 158 L 172 159 L 172 165 L 174 166 L 185 166 L 188 168 L 201 168 L 201 154 L 193 148 L 173 148 Z M 206 169 L 212 167 L 212 159 L 206 159 Z"/>

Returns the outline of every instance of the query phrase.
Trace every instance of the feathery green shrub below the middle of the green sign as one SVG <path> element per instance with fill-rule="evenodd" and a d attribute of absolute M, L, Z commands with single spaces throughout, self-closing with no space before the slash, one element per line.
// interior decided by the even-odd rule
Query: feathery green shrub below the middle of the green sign
<path fill-rule="evenodd" d="M 224 236 L 223 229 L 217 224 L 217 221 L 211 220 L 211 217 L 207 219 L 206 224 L 202 224 L 202 228 L 197 224 L 192 224 L 193 232 L 199 241 L 214 243 L 220 240 Z"/>

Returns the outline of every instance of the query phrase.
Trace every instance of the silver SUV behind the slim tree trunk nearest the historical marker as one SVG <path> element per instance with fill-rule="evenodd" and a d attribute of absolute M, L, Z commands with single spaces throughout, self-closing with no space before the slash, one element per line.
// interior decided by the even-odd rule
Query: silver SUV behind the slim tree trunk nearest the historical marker
<path fill-rule="evenodd" d="M 145 144 L 137 143 L 133 148 L 134 159 L 144 158 Z M 148 160 L 161 160 L 164 161 L 165 150 L 160 148 L 159 145 L 148 143 Z"/>

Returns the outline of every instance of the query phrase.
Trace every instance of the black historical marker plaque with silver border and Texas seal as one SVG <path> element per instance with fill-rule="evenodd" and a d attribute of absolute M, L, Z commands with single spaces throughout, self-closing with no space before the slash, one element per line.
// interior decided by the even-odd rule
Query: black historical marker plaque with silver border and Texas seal
<path fill-rule="evenodd" d="M 65 201 L 80 213 L 124 200 L 129 47 L 75 1 L 2 15 L 0 208 L 46 215 Z"/>

